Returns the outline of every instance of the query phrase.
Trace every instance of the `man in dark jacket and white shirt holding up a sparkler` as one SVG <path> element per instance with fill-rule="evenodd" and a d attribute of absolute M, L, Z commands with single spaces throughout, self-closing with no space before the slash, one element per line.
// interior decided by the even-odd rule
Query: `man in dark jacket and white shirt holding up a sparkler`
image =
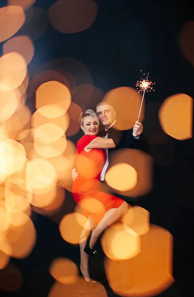
<path fill-rule="evenodd" d="M 96 106 L 96 113 L 99 117 L 100 122 L 104 126 L 104 130 L 101 131 L 98 136 L 104 138 L 115 138 L 118 141 L 118 146 L 116 148 L 106 148 L 107 159 L 104 164 L 103 170 L 101 172 L 100 180 L 105 180 L 105 173 L 109 167 L 109 161 L 111 159 L 112 153 L 117 148 L 134 148 L 135 142 L 139 140 L 139 137 L 143 131 L 142 123 L 136 121 L 133 129 L 126 131 L 119 131 L 114 129 L 114 124 L 116 123 L 116 111 L 113 106 L 107 102 L 100 102 Z M 78 173 L 76 169 L 72 170 L 73 181 L 77 178 Z"/>

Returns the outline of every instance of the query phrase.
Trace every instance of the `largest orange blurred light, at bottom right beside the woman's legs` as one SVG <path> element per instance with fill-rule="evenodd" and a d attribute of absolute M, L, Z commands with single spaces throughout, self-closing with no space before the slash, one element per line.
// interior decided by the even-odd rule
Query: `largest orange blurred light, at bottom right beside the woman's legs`
<path fill-rule="evenodd" d="M 128 246 L 130 249 L 130 246 Z M 172 277 L 172 236 L 155 225 L 141 237 L 141 252 L 124 261 L 106 259 L 105 271 L 113 291 L 126 297 L 151 297 L 169 288 Z"/>

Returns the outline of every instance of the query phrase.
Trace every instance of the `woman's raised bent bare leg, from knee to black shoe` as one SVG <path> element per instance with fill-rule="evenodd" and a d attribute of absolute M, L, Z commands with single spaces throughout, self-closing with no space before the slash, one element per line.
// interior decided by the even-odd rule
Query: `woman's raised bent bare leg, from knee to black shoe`
<path fill-rule="evenodd" d="M 121 216 L 123 216 L 128 210 L 128 203 L 123 201 L 123 203 L 118 208 L 112 208 L 107 210 L 104 217 L 100 223 L 92 231 L 89 247 L 92 249 L 97 242 L 97 239 L 102 234 L 102 232 L 115 223 Z"/>

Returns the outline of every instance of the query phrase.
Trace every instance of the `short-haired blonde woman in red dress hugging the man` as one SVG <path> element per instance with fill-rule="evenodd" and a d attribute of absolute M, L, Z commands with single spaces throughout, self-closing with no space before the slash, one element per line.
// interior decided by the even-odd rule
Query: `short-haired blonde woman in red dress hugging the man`
<path fill-rule="evenodd" d="M 95 198 L 103 204 L 106 210 L 88 239 L 86 232 L 92 221 L 92 216 L 87 214 L 88 221 L 80 237 L 80 270 L 84 279 L 90 281 L 88 255 L 95 254 L 96 251 L 93 248 L 98 237 L 127 211 L 128 204 L 123 199 L 100 191 L 100 174 L 107 157 L 103 148 L 115 148 L 116 140 L 97 137 L 99 119 L 92 109 L 82 112 L 79 121 L 84 136 L 77 143 L 76 171 L 78 178 L 73 184 L 73 196 L 77 203 L 84 198 Z M 88 170 L 89 161 L 92 164 L 89 168 L 91 170 Z"/>

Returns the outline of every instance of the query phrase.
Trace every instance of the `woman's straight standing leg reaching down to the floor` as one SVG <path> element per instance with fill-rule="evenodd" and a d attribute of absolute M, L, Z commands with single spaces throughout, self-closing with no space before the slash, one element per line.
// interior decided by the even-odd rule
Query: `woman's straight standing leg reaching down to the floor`
<path fill-rule="evenodd" d="M 89 282 L 89 270 L 88 270 L 88 254 L 84 252 L 84 247 L 87 241 L 86 233 L 90 230 L 92 223 L 92 218 L 88 217 L 88 220 L 84 226 L 84 229 L 81 231 L 79 247 L 80 247 L 80 270 L 84 279 Z M 85 235 L 85 236 L 84 236 Z"/>

